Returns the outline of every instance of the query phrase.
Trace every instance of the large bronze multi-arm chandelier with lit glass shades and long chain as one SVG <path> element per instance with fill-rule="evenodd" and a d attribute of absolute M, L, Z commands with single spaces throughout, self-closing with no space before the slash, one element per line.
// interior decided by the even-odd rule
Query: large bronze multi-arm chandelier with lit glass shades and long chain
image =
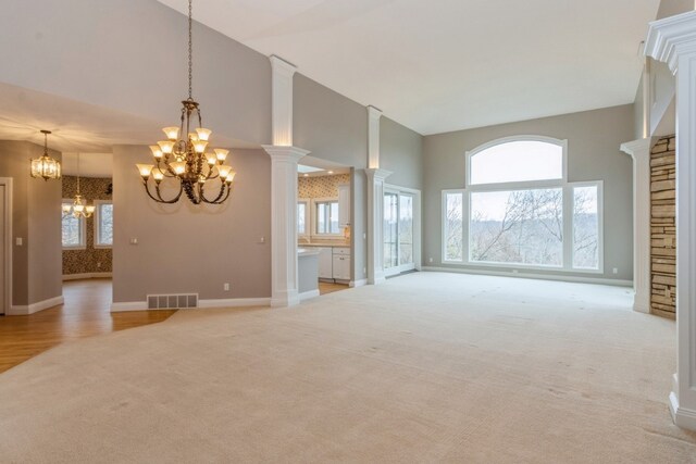
<path fill-rule="evenodd" d="M 192 98 L 191 0 L 188 1 L 188 99 L 182 101 L 179 127 L 164 127 L 167 140 L 150 146 L 154 164 L 136 164 L 145 191 L 158 203 L 176 203 L 182 193 L 194 204 L 220 204 L 229 198 L 235 172 L 225 165 L 228 150 L 216 148 L 206 152 L 211 130 L 202 127 L 198 102 Z M 192 124 L 191 127 L 191 116 Z M 198 118 L 198 126 L 195 126 Z M 160 186 L 165 178 L 178 181 L 178 192 L 164 199 Z M 152 179 L 152 181 L 150 181 Z M 154 184 L 154 185 L 152 185 Z M 215 186 L 216 184 L 216 186 Z M 214 187 L 213 187 L 214 186 Z M 206 195 L 207 190 L 212 193 Z"/>

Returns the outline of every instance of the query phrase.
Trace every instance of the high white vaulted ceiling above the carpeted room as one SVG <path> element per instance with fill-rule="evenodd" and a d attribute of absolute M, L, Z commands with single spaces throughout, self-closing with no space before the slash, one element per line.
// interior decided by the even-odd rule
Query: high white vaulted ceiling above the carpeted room
<path fill-rule="evenodd" d="M 159 0 L 185 13 L 186 0 Z M 423 135 L 634 101 L 659 0 L 207 0 L 194 18 Z M 195 38 L 194 38 L 195 39 Z"/>

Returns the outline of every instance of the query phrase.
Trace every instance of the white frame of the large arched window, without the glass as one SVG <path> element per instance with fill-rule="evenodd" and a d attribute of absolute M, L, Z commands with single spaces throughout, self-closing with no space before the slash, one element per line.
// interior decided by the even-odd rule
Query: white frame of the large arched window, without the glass
<path fill-rule="evenodd" d="M 496 145 L 510 141 L 540 141 L 554 143 L 562 148 L 562 178 L 544 180 L 521 180 L 506 181 L 497 184 L 471 184 L 471 158 Z M 443 264 L 458 264 L 472 267 L 494 267 L 530 271 L 555 271 L 563 273 L 579 274 L 604 274 L 604 181 L 584 180 L 568 181 L 568 140 L 560 140 L 544 136 L 517 136 L 504 137 L 486 142 L 471 151 L 465 152 L 465 186 L 458 189 L 444 189 L 440 197 L 440 260 Z M 596 187 L 597 188 L 597 268 L 573 267 L 574 262 L 574 188 Z M 500 263 L 471 260 L 471 195 L 475 192 L 496 192 L 512 190 L 536 190 L 546 188 L 560 188 L 563 195 L 563 241 L 561 265 L 538 265 L 524 263 Z M 452 260 L 447 258 L 447 228 L 445 221 L 447 217 L 447 196 L 462 195 L 462 259 Z M 570 239 L 568 239 L 570 238 Z"/>

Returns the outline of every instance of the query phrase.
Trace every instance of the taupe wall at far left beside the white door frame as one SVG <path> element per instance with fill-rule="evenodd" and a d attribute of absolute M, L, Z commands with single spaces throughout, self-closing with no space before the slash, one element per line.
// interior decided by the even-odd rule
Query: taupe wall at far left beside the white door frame
<path fill-rule="evenodd" d="M 12 304 L 29 305 L 62 294 L 61 183 L 29 177 L 29 159 L 44 148 L 0 140 L 0 177 L 12 177 Z M 50 150 L 60 160 L 61 154 Z M 21 237 L 24 244 L 16 246 Z"/>

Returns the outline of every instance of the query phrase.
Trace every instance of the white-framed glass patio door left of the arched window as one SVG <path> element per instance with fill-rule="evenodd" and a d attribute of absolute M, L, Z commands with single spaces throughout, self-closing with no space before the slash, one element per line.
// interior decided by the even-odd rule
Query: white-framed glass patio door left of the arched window
<path fill-rule="evenodd" d="M 394 276 L 420 267 L 420 192 L 384 190 L 384 273 Z"/>

